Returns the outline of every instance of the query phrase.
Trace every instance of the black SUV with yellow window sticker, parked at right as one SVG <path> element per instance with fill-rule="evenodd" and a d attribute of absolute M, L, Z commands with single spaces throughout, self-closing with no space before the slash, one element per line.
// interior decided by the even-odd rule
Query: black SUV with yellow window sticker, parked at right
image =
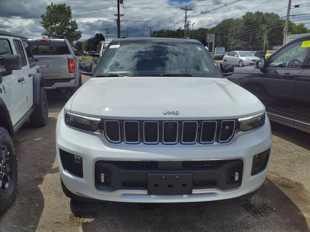
<path fill-rule="evenodd" d="M 256 95 L 270 120 L 310 133 L 310 36 L 279 48 L 229 79 Z"/>

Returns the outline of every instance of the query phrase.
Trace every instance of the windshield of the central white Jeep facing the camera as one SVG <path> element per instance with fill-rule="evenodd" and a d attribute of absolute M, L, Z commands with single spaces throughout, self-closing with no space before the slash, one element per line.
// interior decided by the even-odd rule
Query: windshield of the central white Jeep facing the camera
<path fill-rule="evenodd" d="M 122 43 L 110 45 L 94 76 L 197 76 L 222 78 L 213 59 L 200 44 Z"/>

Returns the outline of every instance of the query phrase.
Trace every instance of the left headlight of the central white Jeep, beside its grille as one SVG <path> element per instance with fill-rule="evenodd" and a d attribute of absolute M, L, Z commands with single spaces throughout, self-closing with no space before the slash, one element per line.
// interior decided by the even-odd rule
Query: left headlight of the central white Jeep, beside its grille
<path fill-rule="evenodd" d="M 100 129 L 100 118 L 87 117 L 65 112 L 65 123 L 79 130 L 94 132 Z"/>

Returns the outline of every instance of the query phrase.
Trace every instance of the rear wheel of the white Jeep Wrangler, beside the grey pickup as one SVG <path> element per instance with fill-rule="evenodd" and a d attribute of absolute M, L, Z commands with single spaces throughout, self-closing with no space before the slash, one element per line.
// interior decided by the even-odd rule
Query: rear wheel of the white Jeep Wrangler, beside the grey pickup
<path fill-rule="evenodd" d="M 30 116 L 30 122 L 33 126 L 44 127 L 48 121 L 47 92 L 43 87 L 39 90 L 39 104 L 34 106 Z"/>

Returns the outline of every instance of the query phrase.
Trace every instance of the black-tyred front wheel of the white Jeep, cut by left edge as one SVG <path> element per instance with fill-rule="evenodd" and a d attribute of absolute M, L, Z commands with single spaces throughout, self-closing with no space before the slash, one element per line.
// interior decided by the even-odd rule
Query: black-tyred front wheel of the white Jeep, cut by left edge
<path fill-rule="evenodd" d="M 0 127 L 0 213 L 6 211 L 16 197 L 17 162 L 11 135 Z"/>

